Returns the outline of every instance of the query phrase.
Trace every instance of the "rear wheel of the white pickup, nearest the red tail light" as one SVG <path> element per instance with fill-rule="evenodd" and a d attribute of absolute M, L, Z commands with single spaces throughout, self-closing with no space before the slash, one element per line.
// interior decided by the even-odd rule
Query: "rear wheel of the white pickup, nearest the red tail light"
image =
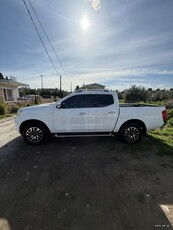
<path fill-rule="evenodd" d="M 128 144 L 138 142 L 141 138 L 141 135 L 141 127 L 136 123 L 127 124 L 120 131 L 121 139 Z"/>

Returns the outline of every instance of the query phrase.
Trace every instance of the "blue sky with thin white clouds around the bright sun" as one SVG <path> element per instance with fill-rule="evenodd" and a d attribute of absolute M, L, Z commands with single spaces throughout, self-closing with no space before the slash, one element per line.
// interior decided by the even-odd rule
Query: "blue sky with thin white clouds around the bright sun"
<path fill-rule="evenodd" d="M 63 88 L 100 83 L 173 87 L 173 0 L 30 0 L 68 77 L 28 5 Z M 31 88 L 59 88 L 23 0 L 0 0 L 0 72 Z M 82 18 L 89 26 L 83 29 Z"/>

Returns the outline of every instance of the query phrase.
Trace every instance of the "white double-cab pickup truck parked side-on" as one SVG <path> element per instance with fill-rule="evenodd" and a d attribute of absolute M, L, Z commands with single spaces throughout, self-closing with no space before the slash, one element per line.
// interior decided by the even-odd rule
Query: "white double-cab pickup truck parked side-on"
<path fill-rule="evenodd" d="M 103 136 L 119 134 L 127 143 L 164 124 L 164 106 L 120 104 L 115 92 L 75 91 L 51 104 L 21 108 L 16 128 L 32 145 L 52 136 Z"/>

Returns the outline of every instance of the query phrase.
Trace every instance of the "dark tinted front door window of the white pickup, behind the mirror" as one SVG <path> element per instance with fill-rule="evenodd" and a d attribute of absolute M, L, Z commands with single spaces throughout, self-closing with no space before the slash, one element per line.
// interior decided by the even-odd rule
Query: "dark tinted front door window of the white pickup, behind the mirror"
<path fill-rule="evenodd" d="M 76 95 L 72 96 L 62 102 L 65 109 L 75 109 L 75 108 L 89 108 L 90 96 L 89 95 Z"/>

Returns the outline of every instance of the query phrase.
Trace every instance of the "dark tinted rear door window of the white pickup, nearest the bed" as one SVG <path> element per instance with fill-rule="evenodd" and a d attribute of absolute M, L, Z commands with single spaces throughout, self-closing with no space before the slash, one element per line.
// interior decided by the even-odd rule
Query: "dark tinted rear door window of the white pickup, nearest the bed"
<path fill-rule="evenodd" d="M 91 107 L 106 107 L 114 104 L 114 99 L 112 95 L 92 95 L 92 106 Z"/>

